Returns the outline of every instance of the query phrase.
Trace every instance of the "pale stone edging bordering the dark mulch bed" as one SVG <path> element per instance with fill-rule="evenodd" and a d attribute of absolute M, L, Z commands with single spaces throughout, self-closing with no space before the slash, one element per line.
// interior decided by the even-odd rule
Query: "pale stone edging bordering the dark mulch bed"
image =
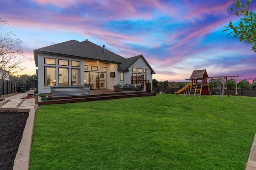
<path fill-rule="evenodd" d="M 13 170 L 28 170 L 36 109 L 2 107 L 1 111 L 29 112 L 28 119 L 23 131 L 22 139 L 20 141 L 20 145 L 13 166 Z"/>

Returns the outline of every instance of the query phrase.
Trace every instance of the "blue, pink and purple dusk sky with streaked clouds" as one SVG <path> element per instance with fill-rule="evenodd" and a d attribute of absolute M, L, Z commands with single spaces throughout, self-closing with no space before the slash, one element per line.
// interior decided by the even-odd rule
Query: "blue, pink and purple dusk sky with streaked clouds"
<path fill-rule="evenodd" d="M 125 58 L 142 54 L 158 81 L 185 81 L 193 70 L 208 76 L 256 78 L 251 45 L 222 32 L 239 19 L 234 0 L 0 0 L 2 32 L 22 39 L 26 70 L 36 74 L 33 50 L 88 39 Z M 256 10 L 256 0 L 251 10 Z"/>

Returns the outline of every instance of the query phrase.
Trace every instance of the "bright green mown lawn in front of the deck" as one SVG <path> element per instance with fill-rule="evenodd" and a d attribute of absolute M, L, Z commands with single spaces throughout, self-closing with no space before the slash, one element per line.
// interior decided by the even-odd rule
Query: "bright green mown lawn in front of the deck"
<path fill-rule="evenodd" d="M 124 98 L 40 106 L 30 170 L 244 170 L 256 98 Z"/>

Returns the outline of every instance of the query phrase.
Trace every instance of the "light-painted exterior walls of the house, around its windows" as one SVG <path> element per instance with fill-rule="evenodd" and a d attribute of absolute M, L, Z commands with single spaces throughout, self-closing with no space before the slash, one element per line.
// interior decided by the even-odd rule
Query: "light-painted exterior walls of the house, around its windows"
<path fill-rule="evenodd" d="M 56 59 L 56 64 L 45 64 L 45 58 L 50 59 Z M 63 66 L 59 65 L 58 60 L 68 60 L 69 65 Z M 79 67 L 73 67 L 71 66 L 71 61 L 79 61 L 80 66 Z M 97 63 L 95 61 L 84 61 L 83 59 L 73 58 L 73 57 L 63 57 L 63 56 L 56 56 L 56 55 L 46 55 L 42 53 L 38 53 L 38 92 L 39 93 L 50 93 L 50 86 L 53 86 L 52 83 L 48 84 L 48 86 L 45 86 L 46 78 L 45 76 L 45 66 L 56 68 L 56 78 L 54 78 L 53 81 L 56 83 L 56 85 L 61 83 L 61 80 L 59 78 L 59 68 L 68 68 L 68 85 L 72 85 L 72 75 L 71 75 L 71 68 L 80 69 L 80 85 L 88 85 L 90 82 L 89 79 L 85 81 L 85 74 L 86 72 L 90 72 L 90 74 L 93 74 L 92 72 L 98 72 L 97 75 L 100 75 L 100 73 L 106 73 L 106 78 L 104 77 L 104 80 L 106 80 L 106 89 L 113 90 L 113 86 L 115 84 L 131 84 L 131 77 L 133 74 L 136 75 L 145 75 L 147 74 L 147 80 L 150 80 L 151 82 L 151 89 L 152 89 L 152 73 L 151 69 L 148 66 L 148 64 L 144 61 L 142 57 L 137 59 L 128 69 L 128 72 L 124 73 L 124 81 L 120 81 L 120 72 L 118 71 L 118 64 L 112 64 L 112 63 Z M 86 69 L 85 69 L 86 67 Z M 93 70 L 92 67 L 97 67 L 97 70 Z M 106 68 L 105 70 L 102 70 L 102 68 Z M 133 68 L 137 68 L 137 72 L 133 71 Z M 139 69 L 142 69 L 142 72 L 139 71 Z M 144 70 L 147 70 L 147 72 L 144 72 Z M 110 77 L 110 72 L 115 72 L 115 77 Z M 88 77 L 87 77 L 88 78 Z M 98 78 L 100 78 L 98 76 Z M 55 80 L 56 79 L 56 80 Z M 102 78 L 103 79 L 103 78 Z M 94 76 L 95 80 L 95 76 Z M 100 83 L 98 83 L 100 84 Z M 95 85 L 95 84 L 94 84 Z M 145 85 L 145 84 L 144 84 Z M 95 88 L 96 86 L 94 86 Z M 104 87 L 105 88 L 105 87 Z M 144 87 L 145 89 L 145 87 Z"/>

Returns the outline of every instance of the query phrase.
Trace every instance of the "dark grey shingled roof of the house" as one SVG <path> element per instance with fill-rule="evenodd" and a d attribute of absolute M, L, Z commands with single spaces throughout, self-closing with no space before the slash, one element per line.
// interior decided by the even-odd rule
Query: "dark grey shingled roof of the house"
<path fill-rule="evenodd" d="M 100 61 L 105 63 L 116 63 L 118 70 L 129 71 L 129 66 L 132 65 L 138 58 L 142 59 L 148 64 L 146 59 L 142 55 L 138 55 L 131 58 L 124 58 L 116 53 L 113 53 L 106 48 L 100 47 L 86 39 L 86 41 L 70 40 L 63 43 L 50 45 L 34 50 L 34 59 L 36 67 L 38 67 L 37 53 L 44 53 L 49 55 L 60 55 L 66 57 L 82 58 L 89 61 Z M 148 64 L 150 67 L 150 65 Z M 150 67 L 151 72 L 154 74 L 154 70 Z"/>

